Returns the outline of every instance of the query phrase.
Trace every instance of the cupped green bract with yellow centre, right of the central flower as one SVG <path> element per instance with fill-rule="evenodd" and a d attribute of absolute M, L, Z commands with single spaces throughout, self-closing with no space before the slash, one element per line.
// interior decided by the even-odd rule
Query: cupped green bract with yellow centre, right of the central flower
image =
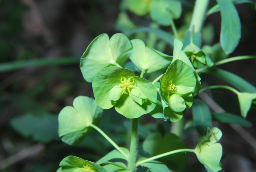
<path fill-rule="evenodd" d="M 172 122 L 182 118 L 182 111 L 193 102 L 196 77 L 194 70 L 181 60 L 175 60 L 160 80 L 159 94 L 164 116 Z"/>

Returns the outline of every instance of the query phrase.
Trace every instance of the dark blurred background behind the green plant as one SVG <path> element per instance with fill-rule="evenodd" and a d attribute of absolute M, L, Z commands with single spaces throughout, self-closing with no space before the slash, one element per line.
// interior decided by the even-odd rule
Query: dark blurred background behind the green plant
<path fill-rule="evenodd" d="M 120 14 L 120 9 L 124 10 L 120 2 L 0 0 L 1 172 L 55 172 L 66 156 L 79 156 L 95 162 L 113 150 L 97 132 L 78 146 L 64 144 L 58 138 L 58 113 L 64 106 L 72 106 L 77 96 L 93 97 L 91 83 L 82 77 L 79 64 L 83 52 L 96 36 L 107 33 L 111 37 L 117 32 L 150 26 L 148 16 L 139 17 L 128 11 L 128 19 L 124 20 Z M 194 6 L 192 0 L 182 2 L 182 17 L 175 20 L 181 37 L 189 26 Z M 256 11 L 246 4 L 238 4 L 236 8 L 242 23 L 242 38 L 230 57 L 256 55 Z M 205 23 L 203 44 L 214 45 L 220 38 L 220 13 L 208 16 Z M 170 27 L 161 28 L 171 32 Z M 143 40 L 146 36 L 148 33 L 143 32 L 129 35 L 129 38 Z M 159 50 L 172 55 L 172 46 L 166 43 Z M 219 68 L 233 72 L 256 86 L 255 66 L 256 60 L 243 60 L 223 64 Z M 154 79 L 154 76 L 146 77 L 150 81 Z M 203 85 L 226 84 L 207 74 L 201 77 Z M 236 96 L 226 93 L 230 92 L 208 92 L 224 110 L 240 115 Z M 104 110 L 102 118 L 100 128 L 118 145 L 128 147 L 130 121 L 113 109 Z M 191 110 L 184 118 L 185 121 L 192 118 Z M 222 171 L 256 172 L 256 110 L 251 110 L 246 119 L 253 124 L 245 128 L 246 133 L 252 136 L 251 144 L 228 124 L 215 124 L 223 132 L 221 144 L 225 159 Z M 166 132 L 171 128 L 170 122 L 156 120 L 148 114 L 140 123 L 142 140 L 159 127 Z M 183 139 L 189 148 L 194 148 L 193 141 L 186 134 Z M 195 158 L 189 158 L 188 166 L 198 162 Z"/>

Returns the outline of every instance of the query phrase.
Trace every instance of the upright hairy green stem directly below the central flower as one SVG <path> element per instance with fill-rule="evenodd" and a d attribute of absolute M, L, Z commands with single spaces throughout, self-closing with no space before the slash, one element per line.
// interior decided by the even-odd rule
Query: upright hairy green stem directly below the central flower
<path fill-rule="evenodd" d="M 136 155 L 137 155 L 137 139 L 138 139 L 138 118 L 132 119 L 132 135 L 130 145 L 130 157 L 128 160 L 128 168 L 130 172 L 134 172 L 136 169 Z"/>

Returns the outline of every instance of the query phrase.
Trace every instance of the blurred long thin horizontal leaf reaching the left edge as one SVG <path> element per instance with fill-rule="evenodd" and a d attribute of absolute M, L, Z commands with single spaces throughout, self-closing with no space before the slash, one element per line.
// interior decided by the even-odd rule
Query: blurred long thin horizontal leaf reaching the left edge
<path fill-rule="evenodd" d="M 39 67 L 49 65 L 63 65 L 63 64 L 79 64 L 79 58 L 44 58 L 36 60 L 18 60 L 14 62 L 6 62 L 0 64 L 0 72 L 8 72 L 27 67 Z"/>

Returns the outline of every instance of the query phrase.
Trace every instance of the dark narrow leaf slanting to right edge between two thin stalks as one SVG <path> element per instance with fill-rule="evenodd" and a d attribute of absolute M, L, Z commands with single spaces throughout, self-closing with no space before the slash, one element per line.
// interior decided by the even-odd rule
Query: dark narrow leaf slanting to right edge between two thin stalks
<path fill-rule="evenodd" d="M 250 92 L 250 93 L 256 92 L 256 88 L 252 84 L 250 84 L 240 76 L 237 76 L 226 70 L 209 68 L 207 70 L 204 70 L 203 72 L 212 74 L 214 76 L 217 76 L 225 80 L 226 82 L 232 84 L 234 87 L 238 88 L 242 92 Z"/>

